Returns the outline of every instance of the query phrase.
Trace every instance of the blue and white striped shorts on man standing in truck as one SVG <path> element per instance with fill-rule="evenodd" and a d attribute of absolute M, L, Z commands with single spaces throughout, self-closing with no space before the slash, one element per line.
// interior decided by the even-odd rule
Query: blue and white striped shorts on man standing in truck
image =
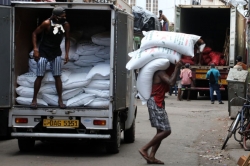
<path fill-rule="evenodd" d="M 37 62 L 37 70 L 36 75 L 37 76 L 44 76 L 44 73 L 46 71 L 46 65 L 50 62 L 51 70 L 53 76 L 60 76 L 61 75 L 61 66 L 62 66 L 62 60 L 61 56 L 57 56 L 52 61 L 48 61 L 47 58 L 40 57 L 39 61 Z"/>

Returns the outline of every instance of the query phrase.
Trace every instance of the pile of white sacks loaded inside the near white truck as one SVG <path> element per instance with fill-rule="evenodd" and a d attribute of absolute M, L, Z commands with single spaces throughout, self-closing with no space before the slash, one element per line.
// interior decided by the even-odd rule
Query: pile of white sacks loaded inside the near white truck
<path fill-rule="evenodd" d="M 65 41 L 62 50 L 63 102 L 68 107 L 86 106 L 108 108 L 110 87 L 110 34 L 108 32 L 92 36 L 92 41 L 71 41 L 69 62 L 64 63 Z M 30 53 L 33 56 L 33 52 Z M 17 103 L 30 105 L 36 79 L 37 63 L 29 59 L 29 72 L 17 77 Z M 50 64 L 38 93 L 38 105 L 58 106 L 58 95 Z"/>

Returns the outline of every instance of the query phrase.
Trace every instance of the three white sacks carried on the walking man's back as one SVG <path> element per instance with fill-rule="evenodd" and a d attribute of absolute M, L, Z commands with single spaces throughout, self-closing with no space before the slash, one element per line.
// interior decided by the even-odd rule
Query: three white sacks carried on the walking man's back
<path fill-rule="evenodd" d="M 128 70 L 140 69 L 136 82 L 142 104 L 150 98 L 152 79 L 157 70 L 166 70 L 181 55 L 194 56 L 194 45 L 200 36 L 167 31 L 143 32 L 140 49 L 129 53 Z"/>

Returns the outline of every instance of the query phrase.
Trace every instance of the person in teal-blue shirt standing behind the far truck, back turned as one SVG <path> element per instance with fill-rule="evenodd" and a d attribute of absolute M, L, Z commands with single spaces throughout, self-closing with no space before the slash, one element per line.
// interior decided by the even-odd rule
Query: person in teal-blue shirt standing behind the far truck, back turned
<path fill-rule="evenodd" d="M 220 72 L 215 68 L 214 63 L 211 64 L 211 69 L 207 72 L 206 79 L 209 80 L 211 104 L 214 104 L 214 91 L 216 91 L 219 104 L 224 104 L 221 101 L 220 86 L 218 84 L 218 80 L 221 82 Z"/>

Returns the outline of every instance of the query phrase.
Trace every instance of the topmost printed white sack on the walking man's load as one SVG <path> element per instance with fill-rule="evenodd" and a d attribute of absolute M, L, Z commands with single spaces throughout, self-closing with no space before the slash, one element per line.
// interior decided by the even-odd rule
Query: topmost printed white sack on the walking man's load
<path fill-rule="evenodd" d="M 143 31 L 145 36 L 141 40 L 141 50 L 151 47 L 165 47 L 187 56 L 194 56 L 194 45 L 201 36 L 168 32 L 168 31 Z"/>

